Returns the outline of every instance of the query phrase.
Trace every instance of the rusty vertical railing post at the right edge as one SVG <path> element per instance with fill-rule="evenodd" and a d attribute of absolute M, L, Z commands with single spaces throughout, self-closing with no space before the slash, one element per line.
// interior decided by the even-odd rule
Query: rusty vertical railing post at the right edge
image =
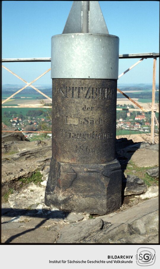
<path fill-rule="evenodd" d="M 152 82 L 152 113 L 151 113 L 151 144 L 154 144 L 154 119 L 155 119 L 155 91 L 156 91 L 156 60 L 153 58 L 153 82 Z"/>

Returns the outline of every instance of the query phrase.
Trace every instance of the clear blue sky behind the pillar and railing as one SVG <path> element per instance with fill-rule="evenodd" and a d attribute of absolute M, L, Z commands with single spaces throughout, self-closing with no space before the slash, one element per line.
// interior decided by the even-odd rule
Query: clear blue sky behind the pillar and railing
<path fill-rule="evenodd" d="M 2 1 L 2 58 L 50 57 L 51 37 L 61 34 L 73 1 Z M 99 1 L 109 34 L 120 39 L 119 54 L 159 52 L 159 1 Z M 138 59 L 120 59 L 119 74 Z M 50 62 L 4 63 L 30 82 Z M 159 81 L 157 59 L 156 83 Z M 152 83 L 153 59 L 144 59 L 118 84 Z M 35 85 L 50 84 L 50 72 Z M 2 70 L 2 84 L 23 82 Z"/>

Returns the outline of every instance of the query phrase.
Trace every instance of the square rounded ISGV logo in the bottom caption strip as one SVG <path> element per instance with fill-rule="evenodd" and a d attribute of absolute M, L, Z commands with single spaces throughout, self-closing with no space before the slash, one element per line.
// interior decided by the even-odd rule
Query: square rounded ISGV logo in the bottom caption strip
<path fill-rule="evenodd" d="M 136 263 L 139 266 L 151 266 L 156 261 L 156 251 L 154 248 L 138 248 L 135 256 Z"/>

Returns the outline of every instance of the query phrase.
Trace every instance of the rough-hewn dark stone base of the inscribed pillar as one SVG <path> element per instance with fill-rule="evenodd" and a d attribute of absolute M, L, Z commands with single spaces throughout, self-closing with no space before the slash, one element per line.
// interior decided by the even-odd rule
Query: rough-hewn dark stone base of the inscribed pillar
<path fill-rule="evenodd" d="M 45 204 L 63 211 L 105 215 L 121 207 L 121 166 L 77 165 L 51 159 Z"/>

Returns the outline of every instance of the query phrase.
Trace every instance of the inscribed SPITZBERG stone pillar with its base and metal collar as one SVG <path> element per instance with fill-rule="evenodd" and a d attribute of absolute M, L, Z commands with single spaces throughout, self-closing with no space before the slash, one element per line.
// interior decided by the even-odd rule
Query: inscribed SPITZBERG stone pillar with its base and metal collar
<path fill-rule="evenodd" d="M 98 215 L 121 206 L 121 167 L 115 159 L 118 60 L 116 36 L 52 37 L 47 205 Z"/>

